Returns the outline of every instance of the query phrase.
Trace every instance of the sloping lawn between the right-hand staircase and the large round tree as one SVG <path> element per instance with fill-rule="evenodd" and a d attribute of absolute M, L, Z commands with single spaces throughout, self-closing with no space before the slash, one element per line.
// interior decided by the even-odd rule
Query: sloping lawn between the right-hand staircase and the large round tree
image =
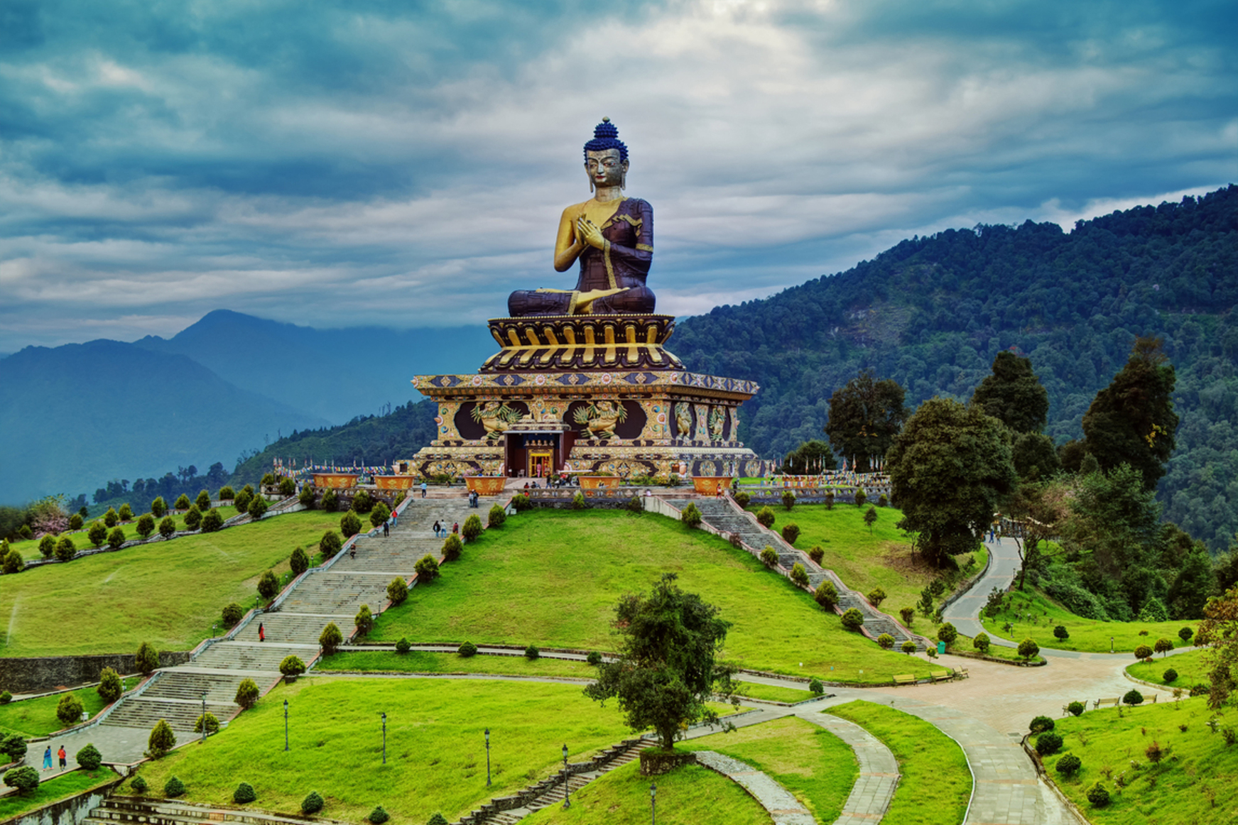
<path fill-rule="evenodd" d="M 748 510 L 756 512 L 760 507 L 749 506 Z M 781 506 L 770 510 L 776 517 L 771 529 L 781 532 L 787 523 L 797 524 L 800 538 L 795 547 L 807 552 L 820 544 L 826 552 L 821 566 L 837 573 L 848 588 L 863 594 L 881 588 L 885 591 L 881 610 L 891 616 L 896 617 L 900 607 L 914 606 L 920 600 L 920 591 L 938 575 L 937 570 L 922 564 L 920 557 L 911 555 L 911 543 L 894 526 L 903 512 L 894 507 L 877 507 L 872 533 L 864 523 L 867 505 L 863 510 L 844 502 L 836 503 L 833 510 L 825 505 L 796 505 L 790 512 Z M 978 566 L 972 570 L 984 569 L 988 549 L 982 545 L 973 555 Z M 966 565 L 967 557 L 959 557 L 958 563 Z M 961 576 L 956 574 L 954 578 Z M 953 580 L 943 595 L 952 588 Z"/>

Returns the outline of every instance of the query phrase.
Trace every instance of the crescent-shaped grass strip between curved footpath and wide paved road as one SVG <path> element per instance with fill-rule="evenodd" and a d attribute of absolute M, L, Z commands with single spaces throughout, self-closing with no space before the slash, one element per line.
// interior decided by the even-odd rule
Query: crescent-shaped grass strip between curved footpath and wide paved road
<path fill-rule="evenodd" d="M 899 787 L 885 823 L 951 825 L 962 823 L 972 795 L 972 773 L 963 750 L 928 722 L 894 707 L 849 701 L 829 712 L 848 719 L 881 740 L 899 762 Z"/>

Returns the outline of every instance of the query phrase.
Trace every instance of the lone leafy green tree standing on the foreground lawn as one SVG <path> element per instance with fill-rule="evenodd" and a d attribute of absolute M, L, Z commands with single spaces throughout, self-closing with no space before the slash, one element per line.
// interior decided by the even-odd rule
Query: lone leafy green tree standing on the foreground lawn
<path fill-rule="evenodd" d="M 667 751 L 683 722 L 717 721 L 708 703 L 714 694 L 730 694 L 734 672 L 718 662 L 730 622 L 701 596 L 680 590 L 676 578 L 664 574 L 647 596 L 619 600 L 619 659 L 600 665 L 598 680 L 584 689 L 597 701 L 618 699 L 628 725 L 652 727 Z"/>

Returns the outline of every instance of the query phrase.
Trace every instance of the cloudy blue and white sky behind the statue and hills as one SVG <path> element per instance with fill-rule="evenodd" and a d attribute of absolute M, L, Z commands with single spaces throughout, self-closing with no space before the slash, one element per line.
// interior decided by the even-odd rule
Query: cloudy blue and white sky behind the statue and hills
<path fill-rule="evenodd" d="M 551 247 L 603 115 L 677 314 L 1207 192 L 1236 30 L 1233 0 L 5 0 L 0 353 L 504 314 L 574 282 Z"/>

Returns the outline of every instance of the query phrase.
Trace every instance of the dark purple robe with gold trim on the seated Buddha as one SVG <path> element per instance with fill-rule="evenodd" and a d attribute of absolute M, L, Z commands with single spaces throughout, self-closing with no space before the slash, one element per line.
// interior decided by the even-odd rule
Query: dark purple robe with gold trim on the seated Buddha
<path fill-rule="evenodd" d="M 645 286 L 654 260 L 654 208 L 640 198 L 624 198 L 599 229 L 607 247 L 587 246 L 581 252 L 574 292 L 519 289 L 508 297 L 508 313 L 513 318 L 571 315 L 576 314 L 578 293 L 623 287 L 628 288 L 594 301 L 589 314 L 654 312 L 654 292 Z"/>

